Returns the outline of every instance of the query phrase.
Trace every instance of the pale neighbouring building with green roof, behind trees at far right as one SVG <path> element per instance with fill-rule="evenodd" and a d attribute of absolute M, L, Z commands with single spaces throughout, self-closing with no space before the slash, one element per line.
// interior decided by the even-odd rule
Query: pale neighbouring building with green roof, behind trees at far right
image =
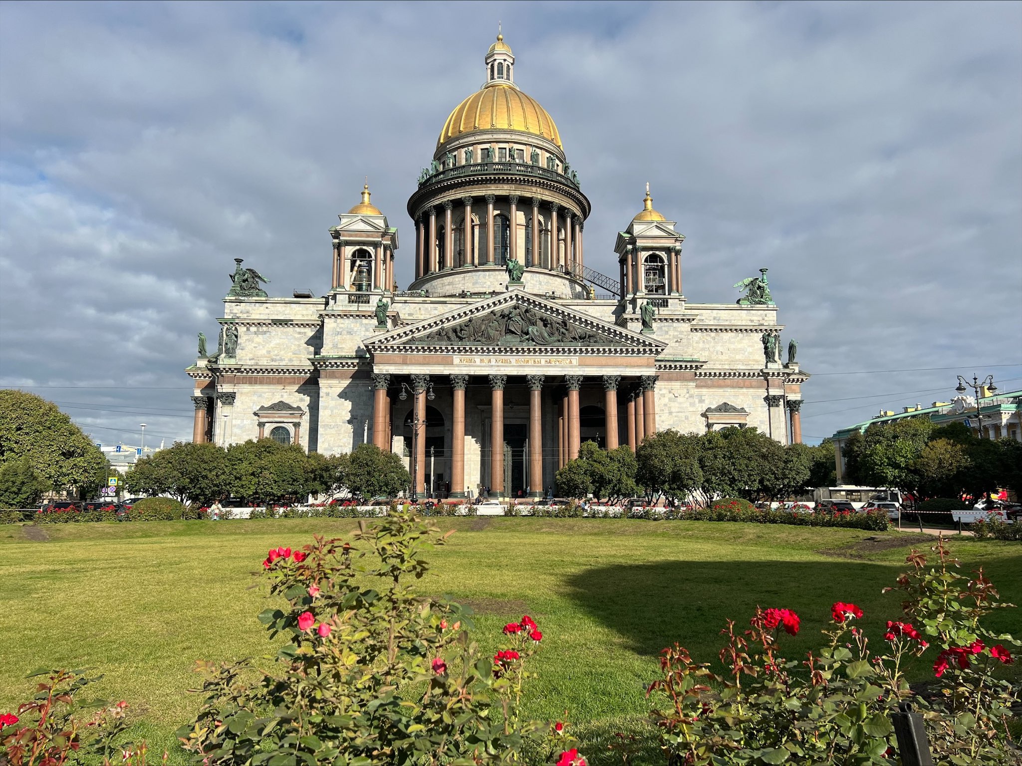
<path fill-rule="evenodd" d="M 985 439 L 1015 439 L 1022 441 L 1022 413 L 1019 411 L 1022 391 L 992 394 L 980 389 L 979 418 L 976 417 L 976 399 L 972 396 L 956 396 L 950 401 L 934 401 L 930 406 L 916 404 L 907 406 L 900 413 L 882 410 L 880 415 L 854 426 L 842 428 L 831 437 L 834 440 L 834 462 L 837 469 L 837 483 L 843 484 L 844 444 L 853 433 L 863 433 L 874 423 L 891 423 L 904 418 L 929 418 L 938 426 L 948 423 L 964 423 L 974 435 Z M 980 424 L 980 420 L 982 424 Z M 982 431 L 980 431 L 982 425 Z"/>

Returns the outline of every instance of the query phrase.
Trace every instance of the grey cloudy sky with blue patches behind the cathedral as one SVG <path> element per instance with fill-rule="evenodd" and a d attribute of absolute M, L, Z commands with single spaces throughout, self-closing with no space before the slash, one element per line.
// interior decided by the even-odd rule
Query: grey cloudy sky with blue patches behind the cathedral
<path fill-rule="evenodd" d="M 4 2 L 0 386 L 104 443 L 190 438 L 232 258 L 325 292 L 367 175 L 408 284 L 405 202 L 499 19 L 593 202 L 587 264 L 617 273 L 648 181 L 689 300 L 769 267 L 807 440 L 959 373 L 1022 388 L 1009 2 Z"/>

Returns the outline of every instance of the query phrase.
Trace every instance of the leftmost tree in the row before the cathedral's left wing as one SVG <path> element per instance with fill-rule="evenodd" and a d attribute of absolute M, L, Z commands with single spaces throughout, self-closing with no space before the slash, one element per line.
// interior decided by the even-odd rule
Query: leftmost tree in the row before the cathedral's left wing
<path fill-rule="evenodd" d="M 230 491 L 227 452 L 216 444 L 176 441 L 136 461 L 125 485 L 132 494 L 169 494 L 207 506 Z"/>

